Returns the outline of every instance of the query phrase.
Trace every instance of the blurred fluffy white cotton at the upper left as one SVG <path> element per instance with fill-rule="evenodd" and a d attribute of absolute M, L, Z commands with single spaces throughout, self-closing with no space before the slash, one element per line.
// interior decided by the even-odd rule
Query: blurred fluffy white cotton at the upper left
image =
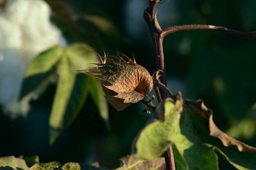
<path fill-rule="evenodd" d="M 7 0 L 0 9 L 0 104 L 11 117 L 29 110 L 29 100 L 18 102 L 29 62 L 51 46 L 66 46 L 50 14 L 43 0 Z"/>

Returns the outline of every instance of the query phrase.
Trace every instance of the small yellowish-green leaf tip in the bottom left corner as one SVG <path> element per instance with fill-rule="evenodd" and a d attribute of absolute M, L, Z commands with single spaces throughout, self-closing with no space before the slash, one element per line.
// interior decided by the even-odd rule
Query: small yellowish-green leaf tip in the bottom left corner
<path fill-rule="evenodd" d="M 27 164 L 23 159 L 13 156 L 0 157 L 0 170 L 27 170 Z"/>

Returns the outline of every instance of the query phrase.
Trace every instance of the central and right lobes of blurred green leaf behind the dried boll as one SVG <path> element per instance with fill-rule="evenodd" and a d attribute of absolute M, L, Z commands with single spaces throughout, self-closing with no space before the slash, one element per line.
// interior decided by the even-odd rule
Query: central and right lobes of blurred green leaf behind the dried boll
<path fill-rule="evenodd" d="M 106 102 L 100 98 L 103 92 L 98 86 L 90 89 L 89 76 L 77 72 L 88 67 L 88 63 L 98 63 L 98 57 L 92 53 L 92 48 L 86 44 L 77 43 L 68 46 L 58 65 L 58 82 L 54 102 L 49 119 L 49 143 L 54 144 L 61 132 L 69 126 L 79 114 L 90 90 L 98 95 L 97 104 L 101 104 L 99 111 L 108 118 Z M 95 89 L 97 88 L 97 89 Z M 98 103 L 101 102 L 101 103 Z"/>

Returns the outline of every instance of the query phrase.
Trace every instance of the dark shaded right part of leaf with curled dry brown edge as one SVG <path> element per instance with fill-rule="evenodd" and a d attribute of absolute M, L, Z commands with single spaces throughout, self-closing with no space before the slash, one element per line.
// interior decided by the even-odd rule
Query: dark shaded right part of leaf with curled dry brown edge
<path fill-rule="evenodd" d="M 238 141 L 218 129 L 213 122 L 212 111 L 204 106 L 202 100 L 197 102 L 184 102 L 184 112 L 190 128 L 184 128 L 183 134 L 192 134 L 200 139 L 200 142 L 211 146 L 214 150 L 219 149 L 231 163 L 240 170 L 255 169 L 256 148 Z M 185 114 L 186 113 L 186 114 Z M 193 133 L 191 133 L 193 129 Z M 194 131 L 195 130 L 195 131 Z"/>

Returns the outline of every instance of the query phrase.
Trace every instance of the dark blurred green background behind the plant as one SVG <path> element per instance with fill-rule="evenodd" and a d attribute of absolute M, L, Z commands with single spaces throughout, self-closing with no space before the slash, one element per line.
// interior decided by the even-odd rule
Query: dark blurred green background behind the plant
<path fill-rule="evenodd" d="M 52 22 L 69 44 L 84 42 L 103 54 L 116 48 L 135 55 L 138 64 L 155 71 L 153 44 L 143 18 L 147 0 L 46 0 Z M 163 28 L 210 24 L 250 32 L 256 30 L 256 1 L 170 0 L 159 4 Z M 43 15 L 43 13 L 42 13 Z M 256 39 L 219 31 L 181 31 L 164 38 L 168 88 L 183 99 L 203 99 L 213 110 L 217 126 L 232 137 L 256 146 Z M 106 128 L 92 99 L 87 99 L 73 124 L 49 146 L 48 119 L 56 86 L 50 85 L 31 102 L 27 117 L 0 114 L 0 157 L 38 155 L 40 162 L 68 161 L 116 168 L 130 154 L 135 135 L 150 115 L 133 104 L 123 112 L 109 106 L 111 130 Z M 220 158 L 220 169 L 232 168 Z"/>

